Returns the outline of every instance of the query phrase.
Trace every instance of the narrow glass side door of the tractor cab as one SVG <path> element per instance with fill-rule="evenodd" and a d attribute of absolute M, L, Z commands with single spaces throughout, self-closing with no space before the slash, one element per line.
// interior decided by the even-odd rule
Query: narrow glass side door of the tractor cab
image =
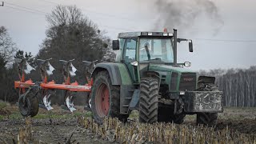
<path fill-rule="evenodd" d="M 130 77 L 133 79 L 134 83 L 138 83 L 138 65 L 134 66 L 134 62 L 137 62 L 137 45 L 138 42 L 134 38 L 124 39 L 124 47 L 122 54 L 122 62 L 126 64 L 129 70 Z"/>

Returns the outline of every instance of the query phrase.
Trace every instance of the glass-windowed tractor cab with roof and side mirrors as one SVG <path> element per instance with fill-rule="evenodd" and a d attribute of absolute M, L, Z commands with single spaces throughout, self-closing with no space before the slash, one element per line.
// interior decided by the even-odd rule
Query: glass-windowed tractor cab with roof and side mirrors
<path fill-rule="evenodd" d="M 118 50 L 116 62 L 125 63 L 133 81 L 139 83 L 140 78 L 149 72 L 152 74 L 152 66 L 165 67 L 162 71 L 166 67 L 191 66 L 190 62 L 177 63 L 177 42 L 182 41 L 189 41 L 189 50 L 193 52 L 192 40 L 177 38 L 177 30 L 174 33 L 166 29 L 164 32 L 127 32 L 118 34 L 113 50 Z"/>

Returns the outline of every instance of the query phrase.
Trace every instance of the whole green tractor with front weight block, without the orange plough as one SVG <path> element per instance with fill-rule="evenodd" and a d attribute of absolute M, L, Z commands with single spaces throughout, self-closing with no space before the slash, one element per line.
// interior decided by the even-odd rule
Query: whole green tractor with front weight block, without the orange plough
<path fill-rule="evenodd" d="M 138 110 L 140 122 L 182 123 L 186 114 L 197 114 L 197 123 L 214 126 L 223 111 L 222 92 L 214 77 L 198 76 L 177 62 L 177 43 L 189 39 L 174 33 L 127 32 L 113 41 L 116 62 L 98 63 L 90 107 L 94 120 L 116 117 L 126 122 Z"/>

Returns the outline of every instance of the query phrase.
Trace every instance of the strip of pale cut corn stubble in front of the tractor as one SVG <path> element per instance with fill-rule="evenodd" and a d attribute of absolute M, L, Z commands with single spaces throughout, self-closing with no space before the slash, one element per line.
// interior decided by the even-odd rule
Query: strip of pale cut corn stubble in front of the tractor
<path fill-rule="evenodd" d="M 104 118 L 98 125 L 92 118 L 78 117 L 80 126 L 103 139 L 120 143 L 253 143 L 256 135 L 240 134 L 228 127 L 214 130 L 204 126 L 175 125 L 173 123 L 122 123 L 117 118 Z"/>

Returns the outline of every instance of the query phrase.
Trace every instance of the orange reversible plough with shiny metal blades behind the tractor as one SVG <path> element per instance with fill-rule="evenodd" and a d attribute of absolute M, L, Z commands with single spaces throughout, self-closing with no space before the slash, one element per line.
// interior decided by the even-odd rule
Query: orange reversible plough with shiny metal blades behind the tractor
<path fill-rule="evenodd" d="M 74 97 L 76 92 L 89 92 L 93 84 L 93 79 L 88 76 L 94 69 L 95 62 L 85 62 L 86 64 L 86 85 L 79 85 L 78 82 L 71 82 L 76 74 L 77 69 L 72 64 L 74 59 L 62 62 L 62 75 L 64 82 L 62 84 L 57 84 L 54 80 L 49 81 L 50 75 L 53 74 L 55 70 L 53 66 L 50 65 L 50 59 L 42 60 L 37 59 L 39 64 L 40 76 L 42 82 L 33 82 L 31 79 L 26 80 L 26 74 L 30 74 L 31 70 L 35 70 L 30 64 L 26 61 L 26 58 L 15 59 L 15 62 L 18 63 L 18 75 L 20 80 L 14 82 L 14 88 L 19 89 L 19 109 L 23 116 L 34 116 L 38 114 L 38 102 L 42 103 L 42 107 L 46 110 L 52 110 L 53 107 L 50 105 L 50 96 L 55 94 L 56 90 L 65 90 L 64 95 L 64 105 L 73 112 L 76 110 L 74 108 Z M 86 97 L 89 97 L 90 94 L 87 94 Z M 86 98 L 87 103 L 89 98 Z M 89 104 L 88 104 L 89 105 Z"/>

